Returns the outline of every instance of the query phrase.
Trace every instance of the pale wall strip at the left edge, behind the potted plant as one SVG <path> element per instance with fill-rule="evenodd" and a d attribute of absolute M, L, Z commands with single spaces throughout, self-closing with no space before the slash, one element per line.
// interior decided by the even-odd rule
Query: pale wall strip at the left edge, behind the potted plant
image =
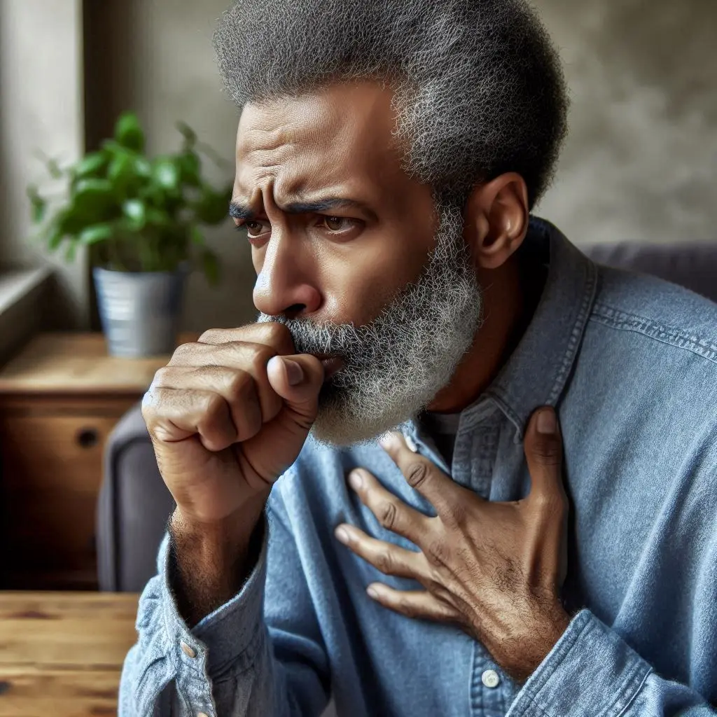
<path fill-rule="evenodd" d="M 82 151 L 80 0 L 0 0 L 0 264 L 49 261 L 57 269 L 50 326 L 87 323 L 87 267 L 47 257 L 32 243 L 30 181 L 47 174 L 37 150 L 63 162 Z"/>

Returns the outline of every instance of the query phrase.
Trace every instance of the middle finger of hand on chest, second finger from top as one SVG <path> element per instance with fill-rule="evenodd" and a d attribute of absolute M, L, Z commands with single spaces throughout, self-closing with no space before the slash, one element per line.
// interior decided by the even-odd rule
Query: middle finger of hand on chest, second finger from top
<path fill-rule="evenodd" d="M 359 495 L 361 503 L 374 513 L 376 520 L 386 530 L 398 533 L 416 544 L 431 530 L 430 521 L 433 518 L 428 518 L 406 505 L 403 500 L 386 490 L 368 470 L 352 470 L 348 475 L 348 483 Z"/>

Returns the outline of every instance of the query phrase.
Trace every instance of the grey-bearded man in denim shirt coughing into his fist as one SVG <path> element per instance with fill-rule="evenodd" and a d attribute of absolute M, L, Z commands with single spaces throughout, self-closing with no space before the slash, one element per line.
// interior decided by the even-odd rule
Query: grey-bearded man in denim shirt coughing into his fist
<path fill-rule="evenodd" d="M 717 307 L 531 219 L 531 9 L 242 0 L 215 44 L 260 321 L 146 396 L 177 509 L 120 713 L 713 714 Z"/>

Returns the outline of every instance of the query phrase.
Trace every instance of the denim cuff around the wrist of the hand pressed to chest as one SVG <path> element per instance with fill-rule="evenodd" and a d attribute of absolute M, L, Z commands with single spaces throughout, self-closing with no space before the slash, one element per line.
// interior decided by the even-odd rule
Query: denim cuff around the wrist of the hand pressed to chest
<path fill-rule="evenodd" d="M 528 678 L 506 717 L 621 714 L 651 671 L 617 632 L 584 609 Z"/>

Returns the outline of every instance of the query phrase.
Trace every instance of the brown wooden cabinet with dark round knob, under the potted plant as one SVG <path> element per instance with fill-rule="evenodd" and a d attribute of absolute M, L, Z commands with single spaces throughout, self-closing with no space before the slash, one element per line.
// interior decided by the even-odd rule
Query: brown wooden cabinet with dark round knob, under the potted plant
<path fill-rule="evenodd" d="M 167 361 L 107 356 L 100 334 L 44 334 L 0 371 L 2 587 L 97 589 L 105 442 Z"/>

